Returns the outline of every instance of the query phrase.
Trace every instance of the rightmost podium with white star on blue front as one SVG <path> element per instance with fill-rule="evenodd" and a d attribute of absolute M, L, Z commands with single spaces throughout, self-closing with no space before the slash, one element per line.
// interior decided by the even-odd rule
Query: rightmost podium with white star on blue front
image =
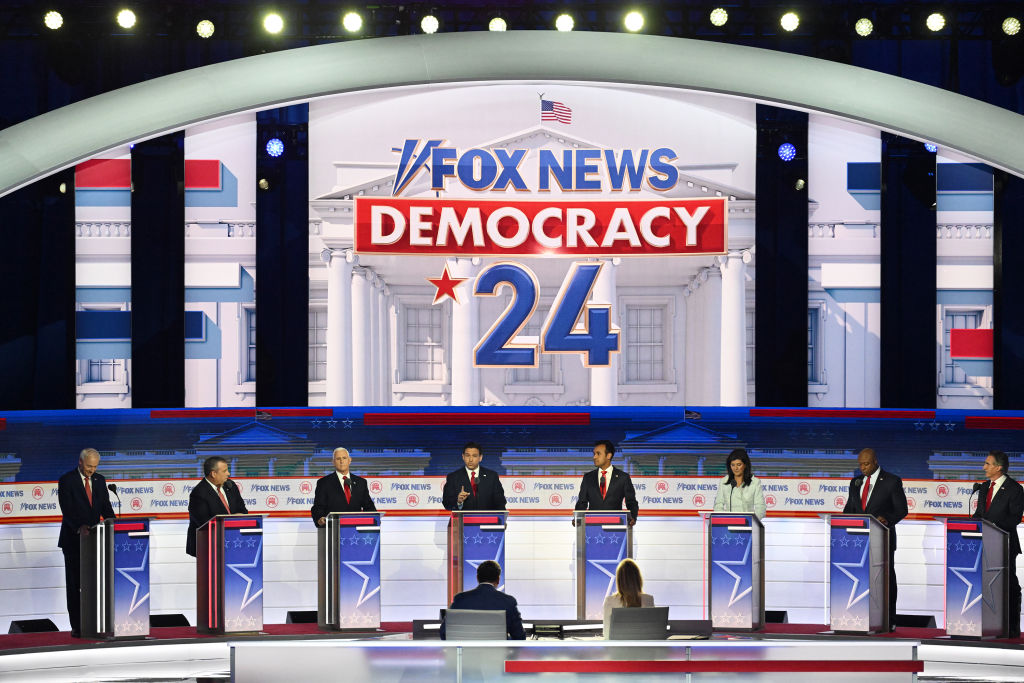
<path fill-rule="evenodd" d="M 1005 638 L 1010 617 L 1010 536 L 985 519 L 949 517 L 946 526 L 946 635 Z"/>

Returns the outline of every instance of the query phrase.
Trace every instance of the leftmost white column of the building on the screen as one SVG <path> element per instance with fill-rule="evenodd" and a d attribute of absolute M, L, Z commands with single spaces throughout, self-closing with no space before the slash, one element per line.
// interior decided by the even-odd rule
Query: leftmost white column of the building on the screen
<path fill-rule="evenodd" d="M 327 402 L 352 402 L 352 266 L 351 249 L 325 249 L 327 262 Z"/>

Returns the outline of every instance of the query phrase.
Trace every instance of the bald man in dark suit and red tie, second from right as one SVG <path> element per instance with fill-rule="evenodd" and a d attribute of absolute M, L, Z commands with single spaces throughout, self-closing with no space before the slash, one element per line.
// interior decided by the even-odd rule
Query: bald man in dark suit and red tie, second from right
<path fill-rule="evenodd" d="M 903 480 L 879 467 L 874 449 L 857 454 L 860 474 L 850 480 L 845 514 L 873 515 L 889 529 L 889 630 L 896 628 L 896 524 L 906 517 Z"/>

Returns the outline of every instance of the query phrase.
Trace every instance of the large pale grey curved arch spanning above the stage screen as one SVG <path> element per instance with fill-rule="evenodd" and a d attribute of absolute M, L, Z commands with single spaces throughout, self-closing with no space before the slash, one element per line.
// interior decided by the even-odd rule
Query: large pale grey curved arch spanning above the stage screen
<path fill-rule="evenodd" d="M 1024 175 L 1024 117 L 939 88 L 772 50 L 553 31 L 377 38 L 263 54 L 154 79 L 0 131 L 0 195 L 119 144 L 228 114 L 340 92 L 471 81 L 685 88 L 831 114 Z"/>

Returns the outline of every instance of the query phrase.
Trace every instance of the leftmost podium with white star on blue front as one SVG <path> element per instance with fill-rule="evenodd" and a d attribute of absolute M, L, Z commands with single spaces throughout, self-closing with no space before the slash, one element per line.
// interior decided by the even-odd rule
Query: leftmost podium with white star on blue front
<path fill-rule="evenodd" d="M 148 636 L 150 520 L 104 519 L 80 545 L 82 636 Z"/>

